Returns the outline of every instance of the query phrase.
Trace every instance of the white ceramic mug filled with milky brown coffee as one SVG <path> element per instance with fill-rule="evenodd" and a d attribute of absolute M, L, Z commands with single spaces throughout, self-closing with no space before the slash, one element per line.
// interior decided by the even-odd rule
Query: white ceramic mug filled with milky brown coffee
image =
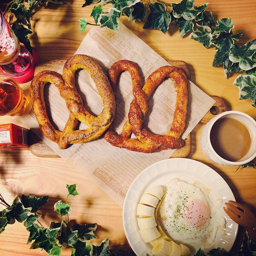
<path fill-rule="evenodd" d="M 248 163 L 256 157 L 256 121 L 240 111 L 218 114 L 204 126 L 200 145 L 209 160 L 220 165 Z"/>

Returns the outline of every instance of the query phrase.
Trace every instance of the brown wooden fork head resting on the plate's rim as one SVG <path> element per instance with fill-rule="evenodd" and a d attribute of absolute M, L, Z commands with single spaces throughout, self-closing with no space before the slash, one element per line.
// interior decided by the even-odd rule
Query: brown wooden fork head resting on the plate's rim
<path fill-rule="evenodd" d="M 235 201 L 228 201 L 225 205 L 224 211 L 237 224 L 250 229 L 256 227 L 256 216 L 249 207 Z"/>

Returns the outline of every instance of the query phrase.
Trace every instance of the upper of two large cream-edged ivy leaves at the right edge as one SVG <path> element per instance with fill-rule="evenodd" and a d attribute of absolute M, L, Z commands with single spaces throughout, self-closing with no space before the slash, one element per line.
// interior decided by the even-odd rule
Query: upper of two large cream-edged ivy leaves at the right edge
<path fill-rule="evenodd" d="M 256 67 L 256 62 L 253 61 L 253 54 L 256 52 L 256 39 L 244 44 L 243 46 L 232 45 L 230 48 L 230 61 L 239 62 L 239 67 L 242 70 L 250 70 Z"/>

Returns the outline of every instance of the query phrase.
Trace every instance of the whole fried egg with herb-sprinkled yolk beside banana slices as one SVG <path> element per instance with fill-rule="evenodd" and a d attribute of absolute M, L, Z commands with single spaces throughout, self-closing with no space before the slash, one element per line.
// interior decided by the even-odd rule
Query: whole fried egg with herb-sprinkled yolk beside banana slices
<path fill-rule="evenodd" d="M 171 180 L 158 211 L 157 218 L 166 235 L 189 247 L 192 253 L 199 248 L 212 249 L 217 232 L 224 233 L 222 201 L 211 201 L 209 191 L 199 183 Z"/>

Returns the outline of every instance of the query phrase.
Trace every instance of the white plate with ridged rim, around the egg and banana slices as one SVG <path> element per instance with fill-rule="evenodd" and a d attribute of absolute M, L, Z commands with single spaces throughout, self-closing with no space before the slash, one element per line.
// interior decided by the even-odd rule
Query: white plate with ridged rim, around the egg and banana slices
<path fill-rule="evenodd" d="M 148 166 L 134 179 L 126 194 L 123 206 L 123 225 L 125 235 L 134 253 L 137 256 L 146 256 L 146 253 L 152 255 L 151 246 L 145 244 L 140 237 L 136 218 L 137 204 L 143 192 L 148 187 L 166 186 L 169 180 L 175 177 L 186 180 L 188 183 L 194 183 L 198 180 L 211 189 L 214 197 L 222 199 L 220 210 L 226 219 L 227 236 L 218 242 L 217 247 L 230 251 L 236 240 L 238 230 L 238 224 L 232 221 L 223 210 L 225 202 L 235 201 L 230 187 L 217 172 L 204 163 L 188 158 L 170 158 Z"/>

